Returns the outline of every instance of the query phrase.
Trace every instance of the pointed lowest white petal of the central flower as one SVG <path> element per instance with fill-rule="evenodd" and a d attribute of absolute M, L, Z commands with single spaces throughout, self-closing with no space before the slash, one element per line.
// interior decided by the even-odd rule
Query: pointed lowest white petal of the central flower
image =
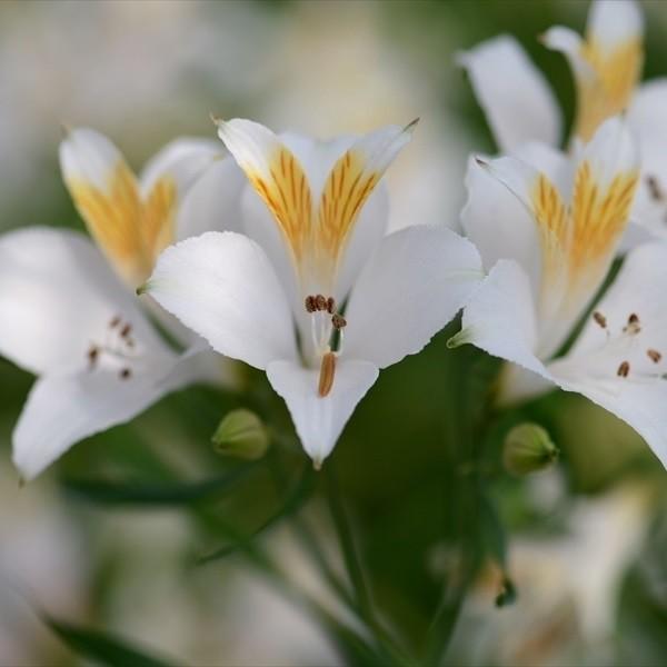
<path fill-rule="evenodd" d="M 319 369 L 298 361 L 273 361 L 267 367 L 273 389 L 287 404 L 303 449 L 316 467 L 331 454 L 338 437 L 378 377 L 378 368 L 367 361 L 339 359 L 331 391 L 317 394 Z"/>

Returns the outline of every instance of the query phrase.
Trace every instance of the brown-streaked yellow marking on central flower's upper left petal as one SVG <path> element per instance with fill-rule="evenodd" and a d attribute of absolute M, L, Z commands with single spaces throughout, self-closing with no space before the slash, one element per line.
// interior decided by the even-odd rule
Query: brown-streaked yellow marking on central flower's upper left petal
<path fill-rule="evenodd" d="M 280 147 L 269 160 L 269 176 L 247 170 L 248 179 L 273 215 L 299 266 L 312 229 L 312 199 L 297 158 Z"/>

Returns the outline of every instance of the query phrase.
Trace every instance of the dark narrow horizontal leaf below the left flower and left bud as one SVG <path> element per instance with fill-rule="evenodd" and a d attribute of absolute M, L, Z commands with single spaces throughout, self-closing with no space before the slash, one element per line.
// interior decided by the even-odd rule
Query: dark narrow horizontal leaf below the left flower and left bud
<path fill-rule="evenodd" d="M 179 482 L 116 482 L 103 479 L 69 479 L 62 482 L 66 491 L 97 505 L 169 506 L 187 505 L 219 496 L 245 479 L 257 465 L 239 466 L 230 472 L 203 481 Z"/>

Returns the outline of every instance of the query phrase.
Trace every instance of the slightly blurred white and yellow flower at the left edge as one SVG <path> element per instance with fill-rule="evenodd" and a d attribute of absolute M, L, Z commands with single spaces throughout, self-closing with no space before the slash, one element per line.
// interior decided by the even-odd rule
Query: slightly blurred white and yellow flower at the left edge
<path fill-rule="evenodd" d="M 107 138 L 74 130 L 60 149 L 62 172 L 103 255 L 64 229 L 33 227 L 0 237 L 0 354 L 38 376 L 13 432 L 13 460 L 24 479 L 168 391 L 212 378 L 210 364 L 197 354 L 203 341 L 172 329 L 188 349 L 171 349 L 133 291 L 157 252 L 188 233 L 185 222 L 198 228 L 206 213 L 213 223 L 205 210 L 210 186 L 198 191 L 193 185 L 219 152 L 208 142 L 176 141 L 138 182 Z M 242 175 L 235 176 L 238 169 L 227 160 L 229 179 L 220 180 L 215 167 L 218 185 L 233 200 L 235 179 L 242 182 Z M 182 218 L 186 208 L 191 215 Z"/>

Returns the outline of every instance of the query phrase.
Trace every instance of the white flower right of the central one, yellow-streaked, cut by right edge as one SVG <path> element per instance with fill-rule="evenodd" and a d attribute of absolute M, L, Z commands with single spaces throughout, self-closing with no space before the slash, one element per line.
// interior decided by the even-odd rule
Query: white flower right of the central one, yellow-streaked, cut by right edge
<path fill-rule="evenodd" d="M 500 158 L 468 175 L 464 226 L 485 265 L 495 266 L 450 344 L 472 342 L 517 365 L 501 378 L 500 400 L 554 384 L 578 391 L 627 421 L 667 465 L 667 245 L 647 243 L 628 255 L 561 354 L 627 225 L 638 181 L 636 146 L 615 118 L 577 158 L 545 153 L 541 160 L 541 171 Z M 487 187 L 491 178 L 495 189 Z M 498 237 L 501 246 L 494 242 Z"/>

